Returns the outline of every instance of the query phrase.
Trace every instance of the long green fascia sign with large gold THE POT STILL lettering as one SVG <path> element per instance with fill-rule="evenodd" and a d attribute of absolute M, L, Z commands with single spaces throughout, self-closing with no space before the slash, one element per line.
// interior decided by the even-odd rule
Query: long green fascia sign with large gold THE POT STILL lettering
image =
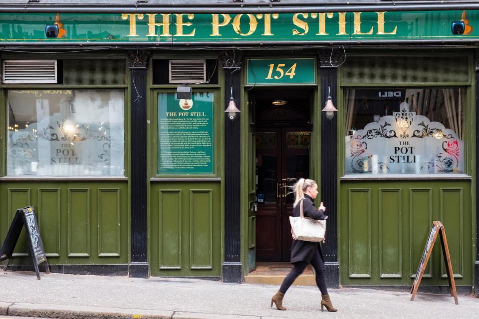
<path fill-rule="evenodd" d="M 453 34 L 453 22 L 465 24 Z M 46 27 L 58 25 L 58 32 Z M 51 31 L 51 30 L 50 30 Z M 2 13 L 1 42 L 225 42 L 479 38 L 479 10 L 266 14 Z"/>

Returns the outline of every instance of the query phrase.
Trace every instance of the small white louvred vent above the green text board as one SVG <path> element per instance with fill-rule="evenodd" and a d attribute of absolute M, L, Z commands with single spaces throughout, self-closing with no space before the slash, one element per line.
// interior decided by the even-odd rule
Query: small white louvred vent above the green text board
<path fill-rule="evenodd" d="M 206 60 L 170 60 L 170 83 L 206 81 Z"/>

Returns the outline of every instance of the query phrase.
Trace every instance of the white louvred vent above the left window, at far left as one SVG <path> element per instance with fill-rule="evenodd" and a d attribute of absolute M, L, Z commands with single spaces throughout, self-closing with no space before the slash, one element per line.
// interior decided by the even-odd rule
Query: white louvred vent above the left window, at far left
<path fill-rule="evenodd" d="M 56 83 L 56 60 L 5 60 L 3 83 Z"/>

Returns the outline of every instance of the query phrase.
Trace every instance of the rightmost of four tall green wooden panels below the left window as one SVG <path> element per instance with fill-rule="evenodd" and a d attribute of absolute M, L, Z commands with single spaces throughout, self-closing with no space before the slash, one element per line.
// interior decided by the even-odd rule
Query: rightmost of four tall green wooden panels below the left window
<path fill-rule="evenodd" d="M 98 256 L 120 256 L 119 188 L 98 188 Z"/>

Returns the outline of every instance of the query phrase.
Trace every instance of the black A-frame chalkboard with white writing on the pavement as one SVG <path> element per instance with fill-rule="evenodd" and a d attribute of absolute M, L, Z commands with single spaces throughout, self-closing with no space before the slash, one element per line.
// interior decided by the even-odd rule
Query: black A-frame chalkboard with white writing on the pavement
<path fill-rule="evenodd" d="M 43 242 L 41 241 L 40 230 L 38 229 L 38 222 L 35 217 L 35 210 L 31 206 L 22 209 L 17 209 L 15 216 L 10 224 L 8 233 L 6 234 L 3 245 L 0 249 L 0 261 L 7 260 L 3 271 L 6 271 L 10 263 L 13 250 L 15 249 L 18 237 L 20 237 L 21 228 L 25 227 L 28 237 L 28 248 L 30 249 L 31 259 L 35 267 L 36 278 L 40 279 L 40 272 L 38 271 L 38 264 L 45 263 L 46 273 L 50 273 L 48 262 L 46 261 L 45 250 L 43 249 Z"/>

